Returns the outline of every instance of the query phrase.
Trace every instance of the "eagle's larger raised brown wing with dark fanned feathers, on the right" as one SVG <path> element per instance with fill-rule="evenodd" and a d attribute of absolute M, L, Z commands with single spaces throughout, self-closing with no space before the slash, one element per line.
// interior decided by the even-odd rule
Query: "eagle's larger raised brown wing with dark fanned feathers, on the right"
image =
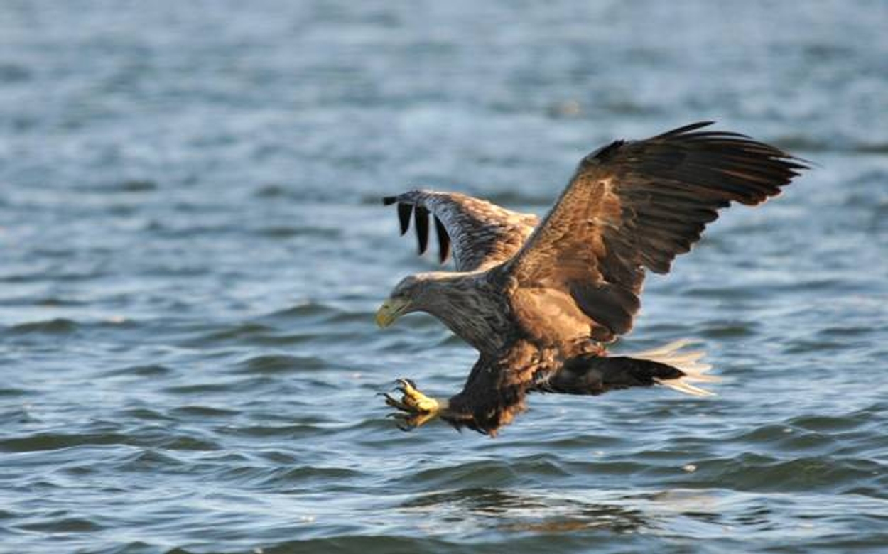
<path fill-rule="evenodd" d="M 629 331 L 645 268 L 669 272 L 718 209 L 764 202 L 807 169 L 744 135 L 698 131 L 710 124 L 618 140 L 583 158 L 506 271 L 539 304 L 570 298 L 591 319 L 592 338 Z"/>

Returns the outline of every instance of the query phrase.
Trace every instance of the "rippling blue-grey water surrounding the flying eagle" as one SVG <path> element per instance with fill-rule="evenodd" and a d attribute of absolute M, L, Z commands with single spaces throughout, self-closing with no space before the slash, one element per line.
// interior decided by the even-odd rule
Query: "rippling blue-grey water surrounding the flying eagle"
<path fill-rule="evenodd" d="M 0 551 L 888 545 L 888 4 L 0 2 Z M 473 352 L 373 313 L 434 267 L 383 194 L 543 213 L 715 119 L 816 162 L 646 285 L 623 350 L 718 397 L 394 429 Z"/>

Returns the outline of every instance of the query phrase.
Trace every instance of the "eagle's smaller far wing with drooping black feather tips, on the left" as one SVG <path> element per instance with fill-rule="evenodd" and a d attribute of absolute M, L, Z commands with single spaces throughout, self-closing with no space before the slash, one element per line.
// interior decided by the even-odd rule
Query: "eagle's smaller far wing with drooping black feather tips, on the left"
<path fill-rule="evenodd" d="M 387 196 L 383 203 L 398 204 L 400 233 L 407 233 L 410 218 L 416 220 L 416 239 L 422 255 L 429 241 L 429 214 L 438 235 L 440 261 L 450 249 L 458 271 L 472 271 L 499 264 L 512 257 L 533 232 L 534 215 L 505 210 L 479 198 L 458 193 L 414 190 Z"/>

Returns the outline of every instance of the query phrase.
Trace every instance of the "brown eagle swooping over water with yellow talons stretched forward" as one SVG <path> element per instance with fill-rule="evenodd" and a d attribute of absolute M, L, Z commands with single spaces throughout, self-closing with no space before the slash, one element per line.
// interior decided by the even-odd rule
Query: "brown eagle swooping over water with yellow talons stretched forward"
<path fill-rule="evenodd" d="M 403 430 L 440 417 L 495 436 L 530 392 L 597 395 L 666 385 L 697 396 L 703 352 L 677 341 L 608 355 L 630 331 L 646 271 L 668 273 L 731 202 L 780 194 L 806 162 L 746 135 L 692 123 L 644 140 L 616 140 L 579 162 L 545 218 L 465 194 L 411 190 L 396 205 L 400 232 L 415 222 L 419 254 L 433 221 L 440 262 L 456 271 L 410 275 L 380 306 L 388 327 L 430 313 L 479 352 L 463 390 L 426 396 L 407 378 L 385 394 Z"/>

